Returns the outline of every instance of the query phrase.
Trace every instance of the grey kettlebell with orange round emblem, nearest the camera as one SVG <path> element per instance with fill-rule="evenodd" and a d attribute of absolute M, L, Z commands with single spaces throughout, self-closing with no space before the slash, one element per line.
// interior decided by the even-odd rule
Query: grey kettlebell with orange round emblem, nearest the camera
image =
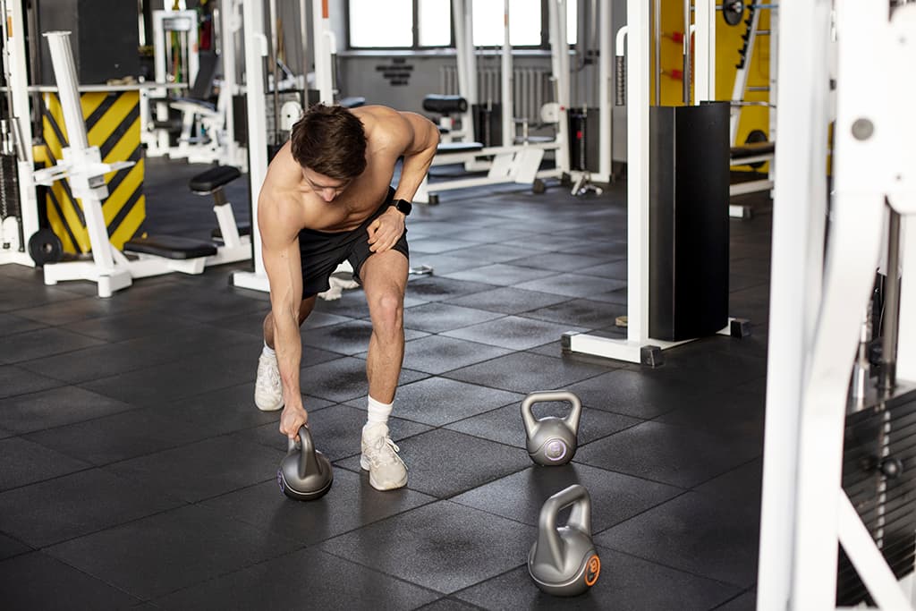
<path fill-rule="evenodd" d="M 567 524 L 557 528 L 557 515 L 571 505 Z M 528 572 L 541 590 L 556 596 L 580 595 L 598 581 L 601 560 L 592 542 L 592 499 L 583 486 L 561 490 L 540 508 Z"/>

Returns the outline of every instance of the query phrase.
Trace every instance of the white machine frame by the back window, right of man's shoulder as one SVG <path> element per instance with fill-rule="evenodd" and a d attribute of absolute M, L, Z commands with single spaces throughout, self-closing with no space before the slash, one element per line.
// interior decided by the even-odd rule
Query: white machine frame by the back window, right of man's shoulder
<path fill-rule="evenodd" d="M 604 0 L 605 2 L 609 0 Z M 462 97 L 467 100 L 468 112 L 462 115 L 462 133 L 469 136 L 473 131 L 472 108 L 477 104 L 476 59 L 474 55 L 474 38 L 472 3 L 470 0 L 452 0 L 455 51 L 458 58 L 458 87 Z M 549 30 L 551 39 L 551 67 L 556 87 L 556 136 L 549 142 L 522 142 L 515 144 L 515 119 L 513 117 L 512 87 L 512 45 L 509 42 L 509 2 L 503 0 L 503 49 L 501 62 L 501 104 L 502 146 L 481 147 L 473 151 L 448 152 L 447 149 L 432 158 L 432 166 L 463 164 L 466 168 L 478 167 L 487 169 L 484 177 L 468 177 L 454 180 L 436 180 L 430 182 L 425 178 L 413 197 L 416 203 L 429 203 L 431 194 L 443 191 L 454 191 L 468 187 L 506 184 L 532 184 L 536 179 L 559 178 L 569 174 L 569 125 L 567 112 L 570 104 L 570 66 L 566 49 L 566 0 L 551 0 L 549 7 Z M 451 138 L 453 141 L 455 136 Z M 555 167 L 540 169 L 540 162 L 546 151 L 554 151 Z M 481 165 L 482 159 L 490 159 Z M 608 171 L 608 174 L 610 172 Z"/>

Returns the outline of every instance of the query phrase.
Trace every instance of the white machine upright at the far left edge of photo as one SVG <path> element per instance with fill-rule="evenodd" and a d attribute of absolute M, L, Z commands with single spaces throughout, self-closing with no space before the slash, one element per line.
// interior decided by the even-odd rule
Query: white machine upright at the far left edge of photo
<path fill-rule="evenodd" d="M 26 245 L 28 238 L 38 231 L 38 196 L 34 189 L 34 180 L 32 179 L 32 169 L 34 167 L 34 158 L 32 156 L 32 125 L 28 120 L 28 80 L 26 69 L 26 36 L 25 36 L 25 18 L 22 10 L 22 3 L 4 2 L 3 7 L 5 14 L 2 15 L 5 20 L 8 37 L 7 57 L 9 65 L 9 82 L 13 107 L 10 109 L 12 117 L 11 129 L 18 130 L 19 142 L 16 151 L 18 162 L 16 165 L 17 176 L 19 179 L 19 214 L 20 218 L 9 217 L 0 225 L 0 244 L 5 247 L 0 248 L 0 265 L 7 263 L 16 263 L 18 265 L 34 267 L 35 262 L 28 255 Z M 23 242 L 20 244 L 19 234 L 23 235 Z"/>

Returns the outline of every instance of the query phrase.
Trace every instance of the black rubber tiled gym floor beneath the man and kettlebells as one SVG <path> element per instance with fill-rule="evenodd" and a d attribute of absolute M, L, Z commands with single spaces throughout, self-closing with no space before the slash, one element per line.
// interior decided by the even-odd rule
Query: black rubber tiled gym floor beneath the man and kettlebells
<path fill-rule="evenodd" d="M 209 235 L 202 166 L 147 160 L 147 229 Z M 227 190 L 241 220 L 245 178 Z M 246 265 L 137 280 L 111 299 L 0 266 L 0 606 L 5 609 L 751 609 L 769 301 L 769 202 L 731 222 L 730 313 L 655 369 L 563 355 L 561 334 L 623 337 L 625 184 L 454 191 L 409 218 L 407 354 L 392 436 L 407 489 L 359 469 L 370 324 L 360 290 L 320 301 L 301 380 L 333 488 L 280 494 L 278 413 L 252 399 L 267 295 Z M 242 202 L 239 205 L 238 202 Z M 572 464 L 529 460 L 519 403 L 583 402 Z M 536 413 L 563 413 L 559 403 Z M 540 593 L 541 504 L 592 497 L 601 576 Z"/>

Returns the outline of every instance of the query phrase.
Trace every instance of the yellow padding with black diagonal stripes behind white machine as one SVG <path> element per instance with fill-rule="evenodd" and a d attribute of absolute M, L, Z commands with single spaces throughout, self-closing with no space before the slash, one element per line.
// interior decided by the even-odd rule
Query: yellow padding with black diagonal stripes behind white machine
<path fill-rule="evenodd" d="M 45 93 L 41 115 L 48 156 L 52 166 L 63 155 L 67 138 L 63 129 L 63 111 L 56 93 Z M 143 195 L 143 148 L 140 146 L 140 94 L 133 92 L 87 92 L 80 95 L 82 117 L 91 147 L 99 147 L 105 163 L 135 161 L 136 164 L 108 174 L 108 198 L 102 202 L 105 226 L 115 248 L 136 234 L 146 217 Z M 48 191 L 48 221 L 60 236 L 65 252 L 87 253 L 91 250 L 86 219 L 81 205 L 73 198 L 70 184 L 58 180 Z"/>

